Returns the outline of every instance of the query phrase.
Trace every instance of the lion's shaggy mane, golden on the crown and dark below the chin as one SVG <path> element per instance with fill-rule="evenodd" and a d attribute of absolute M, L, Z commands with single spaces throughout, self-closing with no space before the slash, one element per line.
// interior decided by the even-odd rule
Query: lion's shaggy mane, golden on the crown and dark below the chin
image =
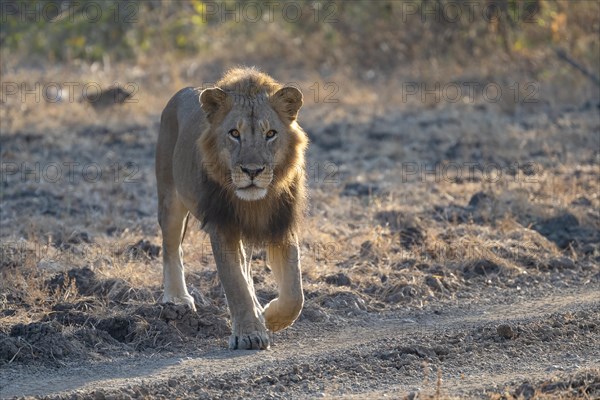
<path fill-rule="evenodd" d="M 217 82 L 218 87 L 248 101 L 260 101 L 281 88 L 270 76 L 253 68 L 233 69 Z M 265 243 L 290 240 L 304 216 L 306 182 L 304 151 L 306 133 L 293 123 L 291 141 L 283 150 L 284 161 L 273 170 L 273 182 L 264 199 L 244 201 L 228 183 L 229 169 L 219 158 L 216 134 L 210 127 L 200 136 L 201 191 L 196 216 L 204 228 L 241 235 L 246 242 Z M 210 166 L 210 170 L 207 166 Z"/>

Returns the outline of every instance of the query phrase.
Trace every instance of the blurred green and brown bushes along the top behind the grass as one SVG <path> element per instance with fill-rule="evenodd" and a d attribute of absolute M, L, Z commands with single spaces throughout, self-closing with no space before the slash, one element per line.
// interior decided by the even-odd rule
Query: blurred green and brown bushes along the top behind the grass
<path fill-rule="evenodd" d="M 35 10 L 35 12 L 33 11 Z M 554 48 L 598 70 L 599 2 L 2 0 L 3 63 L 137 62 L 166 53 L 389 73 Z"/>

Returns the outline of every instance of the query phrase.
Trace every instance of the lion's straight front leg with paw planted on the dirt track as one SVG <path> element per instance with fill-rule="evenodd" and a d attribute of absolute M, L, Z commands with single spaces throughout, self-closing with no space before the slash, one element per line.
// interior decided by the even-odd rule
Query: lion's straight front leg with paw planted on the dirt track
<path fill-rule="evenodd" d="M 247 281 L 246 256 L 240 238 L 211 232 L 210 240 L 231 314 L 229 348 L 268 349 L 269 335 L 262 312 L 255 303 L 253 287 Z"/>

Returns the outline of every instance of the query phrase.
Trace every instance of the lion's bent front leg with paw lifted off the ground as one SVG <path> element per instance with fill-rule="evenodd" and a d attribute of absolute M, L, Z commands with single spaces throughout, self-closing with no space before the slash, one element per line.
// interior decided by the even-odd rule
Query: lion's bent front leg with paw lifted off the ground
<path fill-rule="evenodd" d="M 264 311 L 267 328 L 277 332 L 294 323 L 302 311 L 302 274 L 298 243 L 268 246 L 269 265 L 279 286 L 279 297 L 271 301 Z"/>

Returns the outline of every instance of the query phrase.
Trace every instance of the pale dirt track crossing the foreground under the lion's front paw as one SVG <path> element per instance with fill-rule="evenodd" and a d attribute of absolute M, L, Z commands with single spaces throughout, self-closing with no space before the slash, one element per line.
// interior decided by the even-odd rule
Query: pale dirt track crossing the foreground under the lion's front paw
<path fill-rule="evenodd" d="M 0 394 L 120 390 L 158 397 L 312 398 L 343 392 L 349 398 L 393 398 L 412 391 L 433 394 L 439 367 L 444 394 L 476 396 L 524 377 L 597 367 L 599 293 L 598 285 L 588 285 L 543 297 L 447 307 L 441 314 L 366 315 L 337 327 L 303 321 L 267 352 L 230 352 L 215 344 L 179 357 L 56 370 L 8 365 L 0 371 Z M 498 329 L 501 325 L 508 328 Z"/>

